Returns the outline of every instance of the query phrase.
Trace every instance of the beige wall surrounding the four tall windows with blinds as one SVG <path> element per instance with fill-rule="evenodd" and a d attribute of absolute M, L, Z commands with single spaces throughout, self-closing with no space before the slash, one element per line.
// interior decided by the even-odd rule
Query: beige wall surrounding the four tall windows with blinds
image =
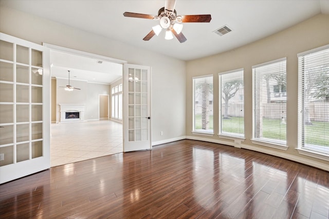
<path fill-rule="evenodd" d="M 230 37 L 229 34 L 224 37 Z M 243 36 L 241 36 L 243 37 Z M 203 138 L 208 141 L 224 141 L 218 133 L 218 75 L 217 73 L 244 68 L 245 99 L 245 138 L 242 144 L 254 146 L 256 149 L 280 156 L 297 156 L 302 159 L 316 161 L 327 165 L 327 161 L 302 156 L 297 147 L 297 112 L 298 112 L 298 59 L 297 53 L 329 44 L 329 15 L 319 14 L 282 32 L 260 39 L 246 46 L 187 62 L 186 80 L 186 134 L 190 138 Z M 252 137 L 252 71 L 251 66 L 287 57 L 287 145 L 282 151 L 259 145 L 253 145 Z M 213 74 L 214 78 L 214 136 L 196 136 L 192 131 L 192 77 Z M 207 140 L 206 140 L 207 141 Z M 282 154 L 284 153 L 284 154 Z M 286 156 L 287 157 L 287 156 Z M 298 160 L 298 159 L 297 159 Z M 329 168 L 329 165 L 328 165 Z"/>

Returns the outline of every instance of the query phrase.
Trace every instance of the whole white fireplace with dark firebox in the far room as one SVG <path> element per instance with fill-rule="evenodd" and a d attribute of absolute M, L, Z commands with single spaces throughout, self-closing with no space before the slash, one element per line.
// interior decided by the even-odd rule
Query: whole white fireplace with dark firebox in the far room
<path fill-rule="evenodd" d="M 60 123 L 85 122 L 84 104 L 59 104 Z"/>

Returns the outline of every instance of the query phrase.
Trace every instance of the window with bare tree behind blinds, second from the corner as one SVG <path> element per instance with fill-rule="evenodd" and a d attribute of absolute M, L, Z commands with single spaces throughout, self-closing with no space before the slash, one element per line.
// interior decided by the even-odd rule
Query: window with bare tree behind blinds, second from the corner
<path fill-rule="evenodd" d="M 243 69 L 218 74 L 220 135 L 244 137 Z"/>

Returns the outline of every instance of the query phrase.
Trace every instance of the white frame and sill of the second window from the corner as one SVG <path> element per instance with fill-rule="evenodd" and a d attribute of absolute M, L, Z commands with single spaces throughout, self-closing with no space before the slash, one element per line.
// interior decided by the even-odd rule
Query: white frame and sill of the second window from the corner
<path fill-rule="evenodd" d="M 244 127 L 243 127 L 243 134 L 223 132 L 223 130 L 222 130 L 222 116 L 223 116 L 223 113 L 222 113 L 221 77 L 222 77 L 222 75 L 225 75 L 225 74 L 233 74 L 233 73 L 240 73 L 240 72 L 242 73 L 241 79 L 242 79 L 242 83 L 243 83 L 243 91 L 242 91 L 243 92 L 243 99 L 242 99 L 243 106 L 242 106 L 242 108 L 243 108 L 243 120 L 244 120 L 244 68 L 218 73 L 218 125 L 219 125 L 219 129 L 218 129 L 218 134 L 217 135 L 218 135 L 218 137 L 221 137 L 221 138 L 227 138 L 227 139 L 230 139 L 230 140 L 242 140 L 242 141 L 244 141 L 245 140 Z"/>

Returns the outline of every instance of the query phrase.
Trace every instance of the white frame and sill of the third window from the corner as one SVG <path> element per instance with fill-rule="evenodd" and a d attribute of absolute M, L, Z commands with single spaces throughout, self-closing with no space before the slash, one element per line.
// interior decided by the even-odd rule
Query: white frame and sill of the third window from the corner
<path fill-rule="evenodd" d="M 266 63 L 262 63 L 259 65 L 254 65 L 252 66 L 252 138 L 251 138 L 251 142 L 253 144 L 257 144 L 257 145 L 262 145 L 262 146 L 266 146 L 266 147 L 271 147 L 271 148 L 276 148 L 276 149 L 280 149 L 280 150 L 288 150 L 288 146 L 287 146 L 287 141 L 283 141 L 283 140 L 272 140 L 271 138 L 259 138 L 256 137 L 256 124 L 255 124 L 255 120 L 257 120 L 257 108 L 259 108 L 259 106 L 256 106 L 256 91 L 259 88 L 256 88 L 257 85 L 255 85 L 255 77 L 256 77 L 256 73 L 255 73 L 255 69 L 259 68 L 259 67 L 264 67 L 264 66 L 269 66 L 275 63 L 281 63 L 281 62 L 285 62 L 285 77 L 287 79 L 287 57 L 283 57 L 283 58 L 279 58 L 279 59 L 275 59 Z M 286 83 L 286 87 L 287 87 L 287 83 Z M 257 90 L 256 90 L 257 89 Z M 286 91 L 286 90 L 285 90 Z M 285 94 L 285 101 L 287 99 L 287 95 Z M 287 102 L 285 102 L 287 103 Z M 287 105 L 286 105 L 286 109 L 285 112 L 287 112 Z M 285 130 L 286 135 L 287 135 L 287 128 Z"/>

